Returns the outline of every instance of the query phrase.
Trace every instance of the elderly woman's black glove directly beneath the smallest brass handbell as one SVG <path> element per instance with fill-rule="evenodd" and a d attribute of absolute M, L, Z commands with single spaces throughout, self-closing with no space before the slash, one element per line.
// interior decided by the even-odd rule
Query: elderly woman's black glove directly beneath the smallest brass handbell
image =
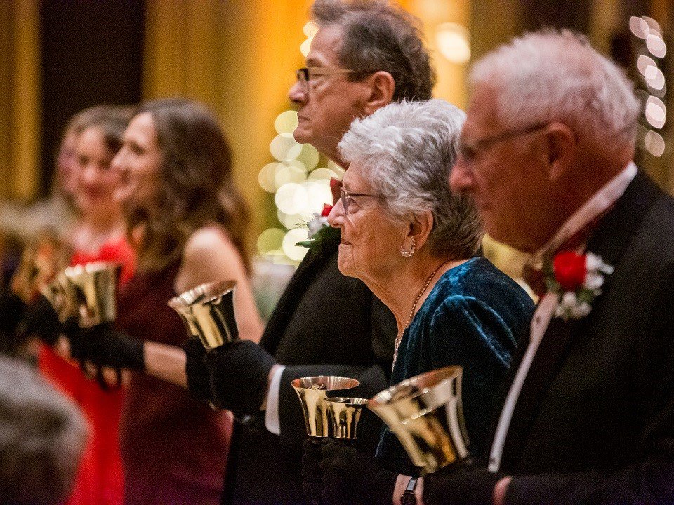
<path fill-rule="evenodd" d="M 397 473 L 359 447 L 327 442 L 321 450 L 322 505 L 392 505 Z"/>

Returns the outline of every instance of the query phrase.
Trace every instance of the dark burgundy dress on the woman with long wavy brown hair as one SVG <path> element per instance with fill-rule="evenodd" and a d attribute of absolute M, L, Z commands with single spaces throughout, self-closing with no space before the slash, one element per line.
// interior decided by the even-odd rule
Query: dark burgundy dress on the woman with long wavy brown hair
<path fill-rule="evenodd" d="M 117 324 L 133 337 L 182 345 L 187 332 L 166 302 L 178 264 L 137 273 L 122 290 Z M 127 505 L 218 505 L 230 443 L 223 412 L 191 400 L 187 390 L 134 373 L 120 423 Z"/>

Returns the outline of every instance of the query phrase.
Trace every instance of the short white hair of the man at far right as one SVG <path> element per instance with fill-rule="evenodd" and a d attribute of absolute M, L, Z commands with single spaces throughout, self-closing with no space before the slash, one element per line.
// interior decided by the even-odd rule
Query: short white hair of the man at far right
<path fill-rule="evenodd" d="M 580 34 L 524 34 L 478 60 L 469 79 L 495 89 L 498 119 L 510 126 L 560 121 L 607 149 L 635 143 L 634 84 Z"/>

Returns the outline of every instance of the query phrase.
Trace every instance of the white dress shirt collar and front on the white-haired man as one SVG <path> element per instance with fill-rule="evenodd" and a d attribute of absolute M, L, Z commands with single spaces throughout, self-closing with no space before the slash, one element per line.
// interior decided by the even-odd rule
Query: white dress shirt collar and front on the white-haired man
<path fill-rule="evenodd" d="M 621 173 L 605 184 L 602 189 L 597 191 L 592 198 L 564 222 L 552 240 L 541 250 L 538 250 L 532 258 L 532 262 L 537 267 L 541 267 L 544 257 L 554 254 L 569 238 L 581 231 L 583 227 L 586 227 L 587 224 L 611 207 L 623 195 L 635 175 L 637 175 L 637 166 L 633 162 L 630 162 Z M 582 249 L 584 249 L 584 245 L 581 246 Z M 517 369 L 513 384 L 510 386 L 508 396 L 505 398 L 501 417 L 498 419 L 494 442 L 491 445 L 491 454 L 489 454 L 489 471 L 496 472 L 501 466 L 503 445 L 505 444 L 505 437 L 508 435 L 508 428 L 510 420 L 513 417 L 515 405 L 517 404 L 517 398 L 520 396 L 520 391 L 522 391 L 524 380 L 527 379 L 531 362 L 534 361 L 538 346 L 541 344 L 541 339 L 543 339 L 543 335 L 545 335 L 548 329 L 548 325 L 553 318 L 553 314 L 555 314 L 555 309 L 557 309 L 559 302 L 560 299 L 556 293 L 546 293 L 538 303 L 534 317 L 531 319 L 529 346 L 527 346 L 527 351 L 524 354 L 524 358 L 522 358 L 520 368 Z"/>

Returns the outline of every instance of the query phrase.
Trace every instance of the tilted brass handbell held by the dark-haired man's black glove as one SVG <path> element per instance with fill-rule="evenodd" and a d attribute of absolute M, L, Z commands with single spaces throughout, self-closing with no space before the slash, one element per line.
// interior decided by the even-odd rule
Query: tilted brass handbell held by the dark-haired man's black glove
<path fill-rule="evenodd" d="M 199 337 L 206 349 L 215 349 L 239 338 L 234 317 L 235 281 L 201 284 L 169 300 L 187 332 Z"/>

